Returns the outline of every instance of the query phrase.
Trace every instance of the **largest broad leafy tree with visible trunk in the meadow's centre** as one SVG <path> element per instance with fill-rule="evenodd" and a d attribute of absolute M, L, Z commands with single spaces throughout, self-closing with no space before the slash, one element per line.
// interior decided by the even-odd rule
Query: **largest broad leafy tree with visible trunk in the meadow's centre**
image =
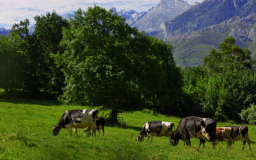
<path fill-rule="evenodd" d="M 77 10 L 70 28 L 63 31 L 61 46 L 65 52 L 56 60 L 63 66 L 67 85 L 62 100 L 111 109 L 115 122 L 118 112 L 139 109 L 156 99 L 168 83 L 165 72 L 175 64 L 172 47 L 139 33 L 112 10 L 99 6 Z"/>

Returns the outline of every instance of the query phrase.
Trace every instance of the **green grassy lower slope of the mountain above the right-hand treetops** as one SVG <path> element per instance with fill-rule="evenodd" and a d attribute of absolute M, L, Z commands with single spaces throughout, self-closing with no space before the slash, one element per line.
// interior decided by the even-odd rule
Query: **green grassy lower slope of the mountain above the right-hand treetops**
<path fill-rule="evenodd" d="M 173 45 L 173 58 L 177 65 L 181 67 L 193 67 L 202 65 L 204 57 L 207 56 L 212 48 L 218 49 L 228 37 L 229 32 L 216 33 L 214 31 L 202 31 L 199 36 L 190 38 L 182 42 L 166 42 Z M 256 43 L 243 42 L 237 40 L 236 44 L 239 47 L 247 48 L 252 52 L 252 58 L 256 58 Z"/>

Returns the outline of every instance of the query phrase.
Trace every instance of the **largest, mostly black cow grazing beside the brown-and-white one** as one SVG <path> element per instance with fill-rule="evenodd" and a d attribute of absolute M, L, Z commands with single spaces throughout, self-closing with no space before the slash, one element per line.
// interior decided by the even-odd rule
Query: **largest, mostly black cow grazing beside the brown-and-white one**
<path fill-rule="evenodd" d="M 180 120 L 176 131 L 170 136 L 170 145 L 179 144 L 179 140 L 186 141 L 187 145 L 191 145 L 190 138 L 200 139 L 200 145 L 205 140 L 210 141 L 212 148 L 216 143 L 216 125 L 217 122 L 211 118 L 201 118 L 197 116 L 189 116 Z M 204 146 L 205 147 L 205 146 Z"/>

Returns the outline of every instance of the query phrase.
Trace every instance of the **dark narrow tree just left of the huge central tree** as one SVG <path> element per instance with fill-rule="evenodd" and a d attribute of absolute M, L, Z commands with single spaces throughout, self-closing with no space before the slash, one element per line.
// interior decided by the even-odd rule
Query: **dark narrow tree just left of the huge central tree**
<path fill-rule="evenodd" d="M 35 32 L 30 38 L 29 58 L 34 60 L 30 65 L 36 66 L 38 87 L 46 92 L 61 93 L 64 86 L 60 68 L 56 67 L 54 55 L 63 52 L 60 47 L 62 29 L 68 27 L 68 21 L 56 12 L 35 17 Z M 33 78 L 34 79 L 34 78 Z"/>

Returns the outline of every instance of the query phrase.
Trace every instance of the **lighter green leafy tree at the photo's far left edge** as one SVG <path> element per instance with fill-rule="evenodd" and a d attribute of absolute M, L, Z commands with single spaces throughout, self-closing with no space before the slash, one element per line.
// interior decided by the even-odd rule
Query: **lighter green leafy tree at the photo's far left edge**
<path fill-rule="evenodd" d="M 20 21 L 13 25 L 10 35 L 0 37 L 0 87 L 7 94 L 24 86 L 28 25 L 28 19 Z"/>

